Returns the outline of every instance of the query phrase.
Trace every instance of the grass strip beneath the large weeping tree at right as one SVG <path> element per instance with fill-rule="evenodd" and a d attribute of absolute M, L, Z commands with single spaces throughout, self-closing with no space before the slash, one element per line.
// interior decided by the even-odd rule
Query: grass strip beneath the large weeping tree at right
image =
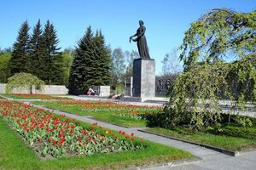
<path fill-rule="evenodd" d="M 172 129 L 154 127 L 146 131 L 232 151 L 256 148 L 256 127 L 228 125 L 223 126 L 221 131 L 205 129 L 204 132 L 195 132 L 183 127 Z"/>

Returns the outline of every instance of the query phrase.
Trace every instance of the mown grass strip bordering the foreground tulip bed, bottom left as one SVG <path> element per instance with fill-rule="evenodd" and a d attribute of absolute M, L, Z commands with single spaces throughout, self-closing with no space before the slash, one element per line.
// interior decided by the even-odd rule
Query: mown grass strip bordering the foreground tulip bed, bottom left
<path fill-rule="evenodd" d="M 144 141 L 144 150 L 42 160 L 0 119 L 0 169 L 123 169 L 192 158 L 191 154 Z"/>

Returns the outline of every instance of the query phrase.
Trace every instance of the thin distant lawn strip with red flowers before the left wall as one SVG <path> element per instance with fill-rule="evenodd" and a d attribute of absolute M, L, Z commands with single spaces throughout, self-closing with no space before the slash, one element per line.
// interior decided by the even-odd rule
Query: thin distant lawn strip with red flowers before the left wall
<path fill-rule="evenodd" d="M 65 96 L 58 97 L 57 95 L 49 94 L 1 94 L 12 99 L 69 99 Z"/>

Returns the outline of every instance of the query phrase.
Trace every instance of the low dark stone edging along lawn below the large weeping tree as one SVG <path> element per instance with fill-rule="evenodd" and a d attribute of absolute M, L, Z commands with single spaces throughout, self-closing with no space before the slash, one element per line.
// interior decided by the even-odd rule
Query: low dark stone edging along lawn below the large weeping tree
<path fill-rule="evenodd" d="M 210 149 L 210 150 L 215 150 L 215 151 L 221 152 L 221 153 L 223 153 L 225 155 L 228 155 L 228 156 L 240 156 L 240 155 L 245 154 L 249 151 L 255 151 L 256 150 L 256 148 L 253 148 L 253 149 L 247 149 L 247 150 L 241 150 L 241 151 L 231 151 L 231 150 L 226 150 L 226 149 L 223 149 L 223 148 L 218 148 L 216 146 L 211 146 L 211 145 L 207 145 L 207 144 L 198 144 L 198 143 L 195 143 L 195 142 L 191 142 L 189 140 L 177 139 L 175 137 L 170 137 L 170 136 L 166 136 L 166 135 L 162 135 L 162 134 L 158 134 L 158 133 L 152 133 L 152 132 L 148 132 L 148 131 L 145 131 L 145 130 L 138 129 L 138 131 L 143 132 L 143 133 L 154 134 L 154 135 L 161 136 L 161 137 L 168 138 L 168 139 L 178 140 L 178 141 L 189 143 L 189 144 L 199 145 L 199 146 L 205 147 L 205 148 Z"/>

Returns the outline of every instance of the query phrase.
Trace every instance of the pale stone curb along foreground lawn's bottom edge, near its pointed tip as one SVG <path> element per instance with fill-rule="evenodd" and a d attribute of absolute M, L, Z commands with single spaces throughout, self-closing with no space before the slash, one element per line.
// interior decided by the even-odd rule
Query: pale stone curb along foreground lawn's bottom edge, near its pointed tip
<path fill-rule="evenodd" d="M 190 163 L 197 163 L 199 161 L 202 161 L 201 157 L 195 156 L 194 158 L 190 158 L 190 159 L 157 163 L 157 164 L 143 166 L 143 167 L 132 167 L 132 168 L 128 168 L 128 170 L 143 170 L 143 169 L 146 170 L 146 169 L 159 169 L 160 167 L 177 167 L 181 165 L 188 165 Z"/>

